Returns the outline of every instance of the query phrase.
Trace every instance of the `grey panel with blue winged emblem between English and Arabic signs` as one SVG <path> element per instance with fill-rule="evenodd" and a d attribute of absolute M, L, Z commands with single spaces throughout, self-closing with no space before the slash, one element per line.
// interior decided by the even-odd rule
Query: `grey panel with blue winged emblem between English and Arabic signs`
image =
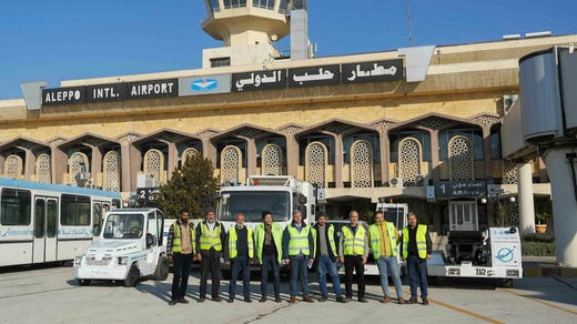
<path fill-rule="evenodd" d="M 180 78 L 179 95 L 231 92 L 231 74 Z"/>

